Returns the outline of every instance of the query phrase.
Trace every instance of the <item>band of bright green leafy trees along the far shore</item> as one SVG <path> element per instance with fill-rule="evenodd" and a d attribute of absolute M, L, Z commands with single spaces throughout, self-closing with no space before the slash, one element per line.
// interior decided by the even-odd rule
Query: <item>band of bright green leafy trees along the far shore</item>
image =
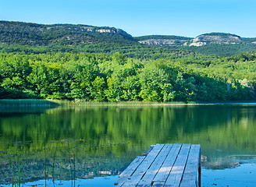
<path fill-rule="evenodd" d="M 119 52 L 0 54 L 0 97 L 84 101 L 254 100 L 256 52 L 127 58 Z"/>

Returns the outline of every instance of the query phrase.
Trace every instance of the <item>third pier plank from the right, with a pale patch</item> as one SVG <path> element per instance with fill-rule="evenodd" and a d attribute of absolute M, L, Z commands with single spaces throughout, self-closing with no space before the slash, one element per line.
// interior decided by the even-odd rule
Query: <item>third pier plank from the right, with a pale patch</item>
<path fill-rule="evenodd" d="M 180 152 L 182 144 L 173 144 L 172 150 L 170 150 L 168 156 L 166 157 L 162 167 L 159 169 L 158 174 L 155 175 L 155 178 L 152 180 L 153 182 L 165 182 L 169 176 L 170 171 L 172 170 L 172 166 L 178 157 L 178 153 Z"/>

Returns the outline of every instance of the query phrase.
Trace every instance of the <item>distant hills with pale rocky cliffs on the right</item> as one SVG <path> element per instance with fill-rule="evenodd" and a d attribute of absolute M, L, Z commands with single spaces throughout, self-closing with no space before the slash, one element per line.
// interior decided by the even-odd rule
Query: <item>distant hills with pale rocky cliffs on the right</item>
<path fill-rule="evenodd" d="M 141 44 L 183 48 L 204 55 L 232 56 L 256 49 L 256 38 L 225 33 L 201 34 L 195 38 L 153 35 L 135 39 Z"/>

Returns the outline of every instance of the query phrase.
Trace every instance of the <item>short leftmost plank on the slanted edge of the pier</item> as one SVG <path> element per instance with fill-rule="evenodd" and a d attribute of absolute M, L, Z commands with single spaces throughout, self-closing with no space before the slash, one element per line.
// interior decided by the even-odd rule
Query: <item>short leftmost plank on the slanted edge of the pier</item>
<path fill-rule="evenodd" d="M 115 182 L 114 185 L 119 185 L 122 182 L 125 182 L 126 179 L 130 178 L 133 175 L 133 172 L 137 169 L 140 163 L 145 159 L 145 156 L 136 157 L 130 165 L 119 175 L 119 179 Z"/>

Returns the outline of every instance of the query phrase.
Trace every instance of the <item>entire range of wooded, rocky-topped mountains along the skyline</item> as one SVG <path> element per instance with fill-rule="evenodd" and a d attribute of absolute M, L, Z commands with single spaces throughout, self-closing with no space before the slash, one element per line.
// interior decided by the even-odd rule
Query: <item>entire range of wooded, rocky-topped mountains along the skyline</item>
<path fill-rule="evenodd" d="M 190 51 L 231 56 L 253 50 L 256 50 L 256 38 L 235 34 L 210 33 L 195 38 L 166 35 L 132 37 L 124 30 L 109 26 L 0 21 L 2 52 L 120 52 L 135 58 L 148 58 L 152 54 L 165 58 L 170 55 L 193 55 Z"/>

